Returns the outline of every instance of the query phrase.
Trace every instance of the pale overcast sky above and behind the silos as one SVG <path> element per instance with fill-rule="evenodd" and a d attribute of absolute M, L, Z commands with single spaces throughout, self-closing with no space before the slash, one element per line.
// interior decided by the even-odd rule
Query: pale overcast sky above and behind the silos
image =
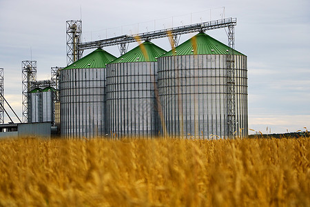
<path fill-rule="evenodd" d="M 271 133 L 310 130 L 309 0 L 0 0 L 5 97 L 21 117 L 21 61 L 37 61 L 39 80 L 50 79 L 50 67 L 66 66 L 67 20 L 81 18 L 83 41 L 90 41 L 122 30 L 134 34 L 181 26 L 191 23 L 191 17 L 192 23 L 220 19 L 223 7 L 225 17 L 237 18 L 236 50 L 248 57 L 249 128 L 263 133 L 267 127 Z M 224 29 L 207 34 L 227 43 Z M 193 35 L 182 36 L 180 43 Z M 171 49 L 167 39 L 153 42 Z M 119 56 L 117 46 L 104 49 Z"/>

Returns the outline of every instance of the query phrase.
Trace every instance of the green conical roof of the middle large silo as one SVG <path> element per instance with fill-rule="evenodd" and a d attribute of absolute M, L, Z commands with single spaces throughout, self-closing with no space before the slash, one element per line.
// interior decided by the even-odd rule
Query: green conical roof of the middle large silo
<path fill-rule="evenodd" d="M 111 63 L 155 62 L 157 57 L 161 57 L 164 52 L 166 51 L 154 43 L 145 41 Z"/>

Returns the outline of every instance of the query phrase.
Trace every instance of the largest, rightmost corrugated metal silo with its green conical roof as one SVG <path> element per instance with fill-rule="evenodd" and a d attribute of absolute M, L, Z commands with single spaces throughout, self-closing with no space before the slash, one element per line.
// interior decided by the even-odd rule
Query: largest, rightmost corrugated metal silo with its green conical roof
<path fill-rule="evenodd" d="M 158 58 L 168 135 L 228 137 L 228 46 L 200 32 Z M 234 50 L 236 135 L 247 136 L 247 57 Z"/>

